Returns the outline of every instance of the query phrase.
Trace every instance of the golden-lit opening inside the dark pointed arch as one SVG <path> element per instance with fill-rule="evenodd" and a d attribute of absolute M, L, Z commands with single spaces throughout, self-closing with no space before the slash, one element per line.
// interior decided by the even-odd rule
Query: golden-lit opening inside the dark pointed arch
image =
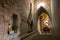
<path fill-rule="evenodd" d="M 38 26 L 40 27 L 41 33 L 50 33 L 50 19 L 48 14 L 42 13 L 38 18 Z"/>

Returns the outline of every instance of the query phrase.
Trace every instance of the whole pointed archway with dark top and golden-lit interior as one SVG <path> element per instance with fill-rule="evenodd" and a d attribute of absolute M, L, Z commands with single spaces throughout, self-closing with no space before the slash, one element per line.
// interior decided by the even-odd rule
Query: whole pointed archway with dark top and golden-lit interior
<path fill-rule="evenodd" d="M 48 11 L 42 6 L 36 13 L 36 24 L 39 33 L 51 33 L 51 18 Z"/>

